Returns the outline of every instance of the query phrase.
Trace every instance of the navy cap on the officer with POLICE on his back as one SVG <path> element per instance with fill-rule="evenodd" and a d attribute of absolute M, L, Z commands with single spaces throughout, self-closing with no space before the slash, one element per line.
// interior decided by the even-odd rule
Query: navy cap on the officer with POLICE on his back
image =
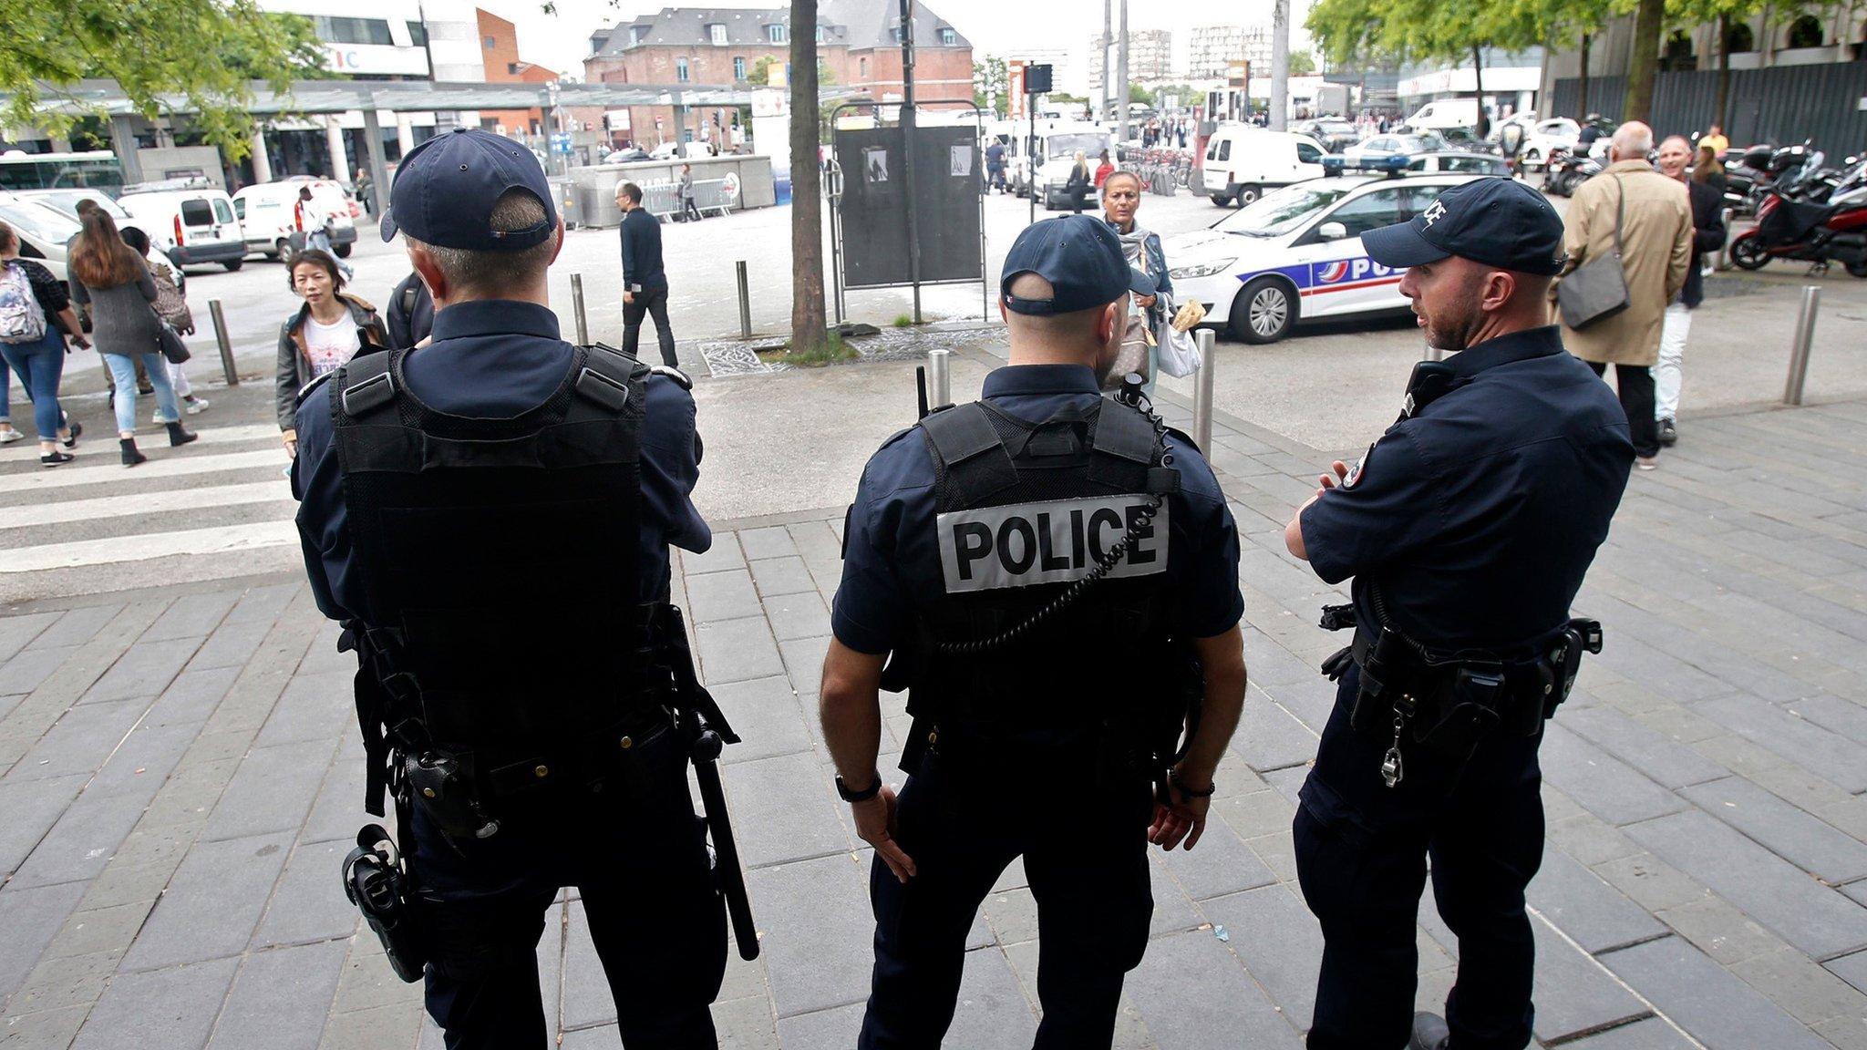
<path fill-rule="evenodd" d="M 1049 282 L 1049 299 L 1012 295 L 1012 280 L 1034 273 Z M 1122 239 L 1102 219 L 1064 215 L 1046 219 L 1012 241 L 999 277 L 999 295 L 1014 314 L 1074 314 L 1107 306 L 1122 295 L 1154 295 L 1154 278 L 1128 265 Z"/>

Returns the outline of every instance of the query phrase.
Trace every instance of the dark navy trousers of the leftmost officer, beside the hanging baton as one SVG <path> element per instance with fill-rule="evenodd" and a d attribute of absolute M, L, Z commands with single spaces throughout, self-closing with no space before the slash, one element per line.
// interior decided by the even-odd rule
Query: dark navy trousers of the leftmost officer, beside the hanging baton
<path fill-rule="evenodd" d="M 715 1050 L 726 908 L 670 736 L 650 785 L 579 794 L 491 839 L 450 844 L 414 809 L 422 917 L 435 942 L 428 1015 L 448 1050 L 545 1050 L 538 936 L 558 889 L 579 887 L 629 1050 Z M 642 744 L 650 747 L 652 744 Z M 456 850 L 457 846 L 457 850 Z M 554 1011 L 554 1005 L 553 1005 Z"/>

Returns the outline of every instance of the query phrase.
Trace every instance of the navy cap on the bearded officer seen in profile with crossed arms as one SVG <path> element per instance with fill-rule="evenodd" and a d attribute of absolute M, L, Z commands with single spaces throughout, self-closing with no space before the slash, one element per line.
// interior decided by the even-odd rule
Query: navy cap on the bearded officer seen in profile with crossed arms
<path fill-rule="evenodd" d="M 1406 269 L 1443 258 L 1555 277 L 1563 273 L 1563 217 L 1516 179 L 1481 177 L 1449 187 L 1408 222 L 1361 235 L 1369 258 Z"/>

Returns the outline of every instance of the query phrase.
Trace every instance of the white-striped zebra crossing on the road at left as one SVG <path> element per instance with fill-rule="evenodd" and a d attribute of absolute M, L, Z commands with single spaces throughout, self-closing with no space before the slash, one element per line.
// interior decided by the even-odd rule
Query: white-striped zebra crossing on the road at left
<path fill-rule="evenodd" d="M 0 602 L 299 566 L 276 426 L 196 424 L 181 448 L 142 435 L 149 461 L 134 469 L 101 430 L 52 471 L 35 441 L 0 447 Z"/>

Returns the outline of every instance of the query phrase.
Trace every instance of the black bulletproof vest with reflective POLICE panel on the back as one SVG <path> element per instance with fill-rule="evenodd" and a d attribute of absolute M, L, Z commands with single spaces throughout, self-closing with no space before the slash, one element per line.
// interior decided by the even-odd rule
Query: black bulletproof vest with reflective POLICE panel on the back
<path fill-rule="evenodd" d="M 1109 400 L 1046 420 L 975 402 L 920 428 L 943 594 L 922 609 L 909 710 L 941 732 L 1060 745 L 1150 708 L 1165 678 L 1178 475 L 1148 419 Z M 1126 557 L 1079 583 L 1128 531 Z"/>

